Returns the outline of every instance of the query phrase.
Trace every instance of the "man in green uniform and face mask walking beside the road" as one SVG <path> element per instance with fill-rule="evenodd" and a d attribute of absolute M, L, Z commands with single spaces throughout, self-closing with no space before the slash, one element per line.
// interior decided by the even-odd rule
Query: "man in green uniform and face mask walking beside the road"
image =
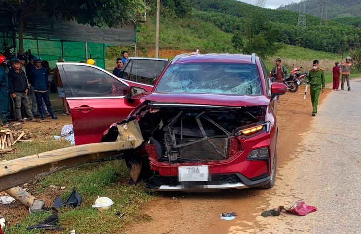
<path fill-rule="evenodd" d="M 326 81 L 324 78 L 323 69 L 318 67 L 318 60 L 312 62 L 313 67 L 307 75 L 307 83 L 310 84 L 310 96 L 312 103 L 312 116 L 317 113 L 318 97 L 320 93 L 324 92 Z"/>

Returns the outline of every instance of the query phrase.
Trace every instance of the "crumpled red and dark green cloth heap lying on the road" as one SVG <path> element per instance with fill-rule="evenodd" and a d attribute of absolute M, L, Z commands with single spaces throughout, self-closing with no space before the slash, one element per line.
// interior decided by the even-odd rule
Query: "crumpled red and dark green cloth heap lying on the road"
<path fill-rule="evenodd" d="M 278 206 L 278 209 L 271 209 L 266 210 L 261 213 L 263 217 L 267 217 L 269 215 L 271 216 L 279 216 L 281 214 L 281 211 L 285 210 L 288 213 L 295 214 L 295 215 L 307 215 L 311 212 L 317 211 L 317 208 L 315 206 L 306 205 L 306 203 L 303 200 L 297 201 L 293 206 L 291 206 L 289 209 L 285 209 L 284 206 Z"/>

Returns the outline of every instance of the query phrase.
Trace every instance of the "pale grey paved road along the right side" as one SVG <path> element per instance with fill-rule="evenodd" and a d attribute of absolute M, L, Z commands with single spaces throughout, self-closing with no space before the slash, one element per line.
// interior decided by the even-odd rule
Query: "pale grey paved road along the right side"
<path fill-rule="evenodd" d="M 265 224 L 260 233 L 361 233 L 361 78 L 351 81 L 351 89 L 332 91 L 318 107 L 270 198 L 272 207 L 304 199 L 318 211 L 259 217 Z"/>

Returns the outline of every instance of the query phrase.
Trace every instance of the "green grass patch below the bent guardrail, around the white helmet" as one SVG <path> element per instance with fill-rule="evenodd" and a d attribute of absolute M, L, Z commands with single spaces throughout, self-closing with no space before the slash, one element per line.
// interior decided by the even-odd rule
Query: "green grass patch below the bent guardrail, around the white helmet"
<path fill-rule="evenodd" d="M 124 225 L 137 220 L 139 208 L 151 198 L 151 195 L 143 192 L 145 184 L 127 186 L 125 182 L 128 179 L 129 173 L 123 160 L 92 163 L 42 178 L 32 185 L 28 192 L 38 197 L 44 192 L 49 192 L 50 185 L 65 186 L 66 189 L 61 194 L 63 202 L 69 196 L 72 187 L 76 187 L 76 191 L 81 194 L 82 203 L 79 207 L 59 209 L 58 225 L 65 230 L 51 233 L 69 234 L 72 229 L 75 229 L 76 233 L 124 233 Z M 92 208 L 98 196 L 107 196 L 114 204 L 107 211 Z M 121 216 L 116 215 L 116 212 Z M 8 225 L 5 233 L 48 233 L 42 229 L 28 231 L 26 227 L 40 222 L 50 214 L 50 211 L 41 211 L 25 215 L 17 225 Z M 6 216 L 7 220 L 11 218 L 11 215 Z"/>

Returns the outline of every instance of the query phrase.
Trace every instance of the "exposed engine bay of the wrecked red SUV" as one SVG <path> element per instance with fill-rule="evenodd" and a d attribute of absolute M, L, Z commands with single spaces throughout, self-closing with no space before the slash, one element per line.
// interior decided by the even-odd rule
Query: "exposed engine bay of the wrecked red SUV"
<path fill-rule="evenodd" d="M 144 106 L 138 119 L 146 144 L 159 162 L 227 159 L 243 149 L 240 130 L 264 121 L 266 107 Z M 128 120 L 128 121 L 129 121 Z M 147 148 L 149 156 L 154 154 Z"/>

